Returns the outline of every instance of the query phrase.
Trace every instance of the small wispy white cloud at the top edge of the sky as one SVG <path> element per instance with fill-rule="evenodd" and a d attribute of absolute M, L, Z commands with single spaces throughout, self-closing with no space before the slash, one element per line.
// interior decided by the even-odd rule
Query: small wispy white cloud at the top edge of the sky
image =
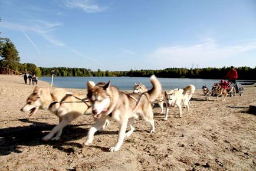
<path fill-rule="evenodd" d="M 87 13 L 101 12 L 107 8 L 101 8 L 99 5 L 93 4 L 89 0 L 67 0 L 65 1 L 65 6 L 67 6 L 68 8 L 80 8 Z"/>

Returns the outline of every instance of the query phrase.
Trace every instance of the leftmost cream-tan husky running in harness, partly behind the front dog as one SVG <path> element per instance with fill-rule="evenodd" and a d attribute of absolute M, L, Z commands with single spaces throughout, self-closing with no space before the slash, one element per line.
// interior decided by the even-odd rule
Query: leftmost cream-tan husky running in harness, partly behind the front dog
<path fill-rule="evenodd" d="M 62 130 L 68 123 L 81 114 L 91 113 L 91 108 L 89 107 L 90 103 L 85 95 L 68 94 L 62 88 L 56 88 L 51 91 L 50 88 L 36 86 L 21 111 L 31 111 L 29 116 L 32 116 L 39 108 L 42 110 L 48 109 L 59 118 L 59 124 L 47 136 L 42 138 L 42 140 L 47 141 L 60 139 Z M 55 133 L 57 134 L 53 137 Z"/>

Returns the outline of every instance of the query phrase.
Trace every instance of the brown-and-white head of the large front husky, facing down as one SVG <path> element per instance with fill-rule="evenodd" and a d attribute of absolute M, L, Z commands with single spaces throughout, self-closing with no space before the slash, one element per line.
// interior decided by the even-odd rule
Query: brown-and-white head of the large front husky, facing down
<path fill-rule="evenodd" d="M 93 81 L 87 82 L 87 97 L 91 103 L 94 119 L 100 119 L 101 114 L 109 114 L 110 106 L 110 81 L 109 83 L 98 83 Z"/>

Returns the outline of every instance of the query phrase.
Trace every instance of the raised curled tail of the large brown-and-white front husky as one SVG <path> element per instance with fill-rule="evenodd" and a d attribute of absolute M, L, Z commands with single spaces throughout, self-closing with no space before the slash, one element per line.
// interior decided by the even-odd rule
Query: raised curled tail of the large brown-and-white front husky
<path fill-rule="evenodd" d="M 153 87 L 147 93 L 149 93 L 149 101 L 153 102 L 162 93 L 162 85 L 155 75 L 150 77 L 150 82 Z"/>

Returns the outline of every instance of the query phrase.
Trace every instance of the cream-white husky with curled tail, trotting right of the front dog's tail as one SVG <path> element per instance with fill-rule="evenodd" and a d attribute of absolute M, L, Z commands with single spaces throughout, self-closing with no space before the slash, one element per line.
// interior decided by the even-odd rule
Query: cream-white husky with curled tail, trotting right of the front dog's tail
<path fill-rule="evenodd" d="M 189 100 L 191 100 L 193 93 L 195 93 L 194 85 L 188 85 L 183 89 L 175 88 L 174 90 L 170 90 L 170 93 L 165 90 L 166 112 L 164 120 L 168 118 L 170 106 L 179 107 L 179 117 L 182 117 L 182 104 L 187 107 L 189 111 Z"/>

